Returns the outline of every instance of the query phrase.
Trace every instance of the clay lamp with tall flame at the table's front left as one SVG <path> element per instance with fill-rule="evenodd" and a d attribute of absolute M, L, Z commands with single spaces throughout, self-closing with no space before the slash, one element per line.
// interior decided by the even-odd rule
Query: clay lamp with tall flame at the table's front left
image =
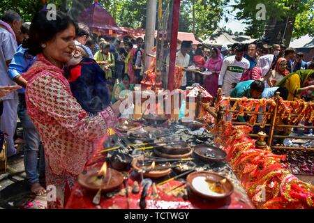
<path fill-rule="evenodd" d="M 78 176 L 78 183 L 87 190 L 110 192 L 124 183 L 124 176 L 117 170 L 107 168 L 106 162 L 101 169 L 88 169 Z"/>

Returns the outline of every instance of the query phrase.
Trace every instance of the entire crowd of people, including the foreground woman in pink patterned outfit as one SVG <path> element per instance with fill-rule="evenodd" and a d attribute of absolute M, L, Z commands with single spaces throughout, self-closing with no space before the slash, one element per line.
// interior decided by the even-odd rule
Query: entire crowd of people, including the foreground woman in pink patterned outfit
<path fill-rule="evenodd" d="M 47 20 L 45 10 L 31 22 L 13 10 L 0 19 L 0 128 L 7 134 L 7 156 L 24 153 L 31 192 L 43 194 L 44 183 L 55 185 L 57 202 L 50 208 L 60 208 L 94 151 L 93 141 L 117 123 L 121 91 L 133 90 L 144 76 L 144 39 L 98 36 L 61 12 L 55 21 Z M 314 56 L 304 61 L 302 52 L 285 45 L 209 49 L 184 40 L 176 65 L 186 68 L 181 89 L 200 85 L 214 98 L 221 88 L 232 98 L 271 98 L 278 91 L 284 100 L 313 100 Z"/>

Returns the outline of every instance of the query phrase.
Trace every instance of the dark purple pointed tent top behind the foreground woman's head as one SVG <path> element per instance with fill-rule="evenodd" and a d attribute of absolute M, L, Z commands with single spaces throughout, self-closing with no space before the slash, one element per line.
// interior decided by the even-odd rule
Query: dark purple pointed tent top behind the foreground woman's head
<path fill-rule="evenodd" d="M 97 2 L 84 10 L 77 19 L 87 24 L 95 33 L 108 33 L 108 31 L 121 31 L 114 18 Z"/>

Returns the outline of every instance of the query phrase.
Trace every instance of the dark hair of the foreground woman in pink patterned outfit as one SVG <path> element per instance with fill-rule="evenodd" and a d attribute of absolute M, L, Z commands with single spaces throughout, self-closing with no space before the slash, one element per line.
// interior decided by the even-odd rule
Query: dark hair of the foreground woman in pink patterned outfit
<path fill-rule="evenodd" d="M 33 17 L 29 29 L 29 39 L 23 43 L 23 47 L 27 48 L 27 52 L 33 56 L 43 52 L 43 47 L 41 47 L 43 42 L 52 40 L 57 33 L 66 30 L 70 24 L 73 24 L 77 31 L 75 22 L 65 13 L 57 10 L 56 20 L 48 20 L 48 12 L 48 10 L 43 10 Z"/>

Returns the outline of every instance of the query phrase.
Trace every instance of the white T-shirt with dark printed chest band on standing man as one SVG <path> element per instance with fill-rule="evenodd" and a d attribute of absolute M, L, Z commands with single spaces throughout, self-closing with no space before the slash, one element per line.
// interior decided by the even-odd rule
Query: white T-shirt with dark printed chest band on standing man
<path fill-rule="evenodd" d="M 223 93 L 225 97 L 230 96 L 232 91 L 232 84 L 239 83 L 243 73 L 250 68 L 250 62 L 242 58 L 241 61 L 237 61 L 235 56 L 228 56 L 223 60 L 223 66 L 221 67 L 218 79 L 218 85 L 223 86 Z"/>

